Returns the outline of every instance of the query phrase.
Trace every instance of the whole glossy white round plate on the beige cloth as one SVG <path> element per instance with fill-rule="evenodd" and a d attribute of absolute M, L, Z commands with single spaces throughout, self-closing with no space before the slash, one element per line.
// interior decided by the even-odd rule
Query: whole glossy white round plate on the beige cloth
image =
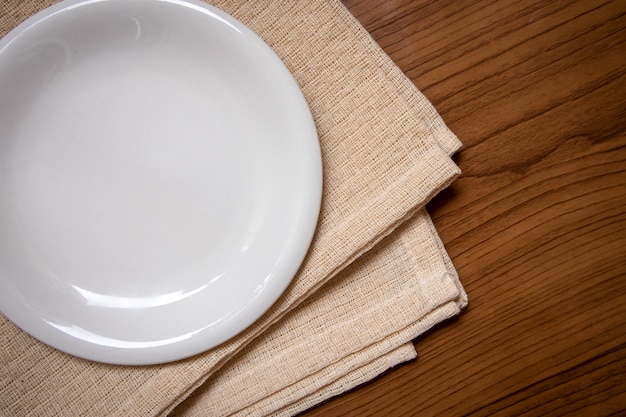
<path fill-rule="evenodd" d="M 0 310 L 44 343 L 150 364 L 232 338 L 321 188 L 291 74 L 202 2 L 70 0 L 0 41 Z"/>

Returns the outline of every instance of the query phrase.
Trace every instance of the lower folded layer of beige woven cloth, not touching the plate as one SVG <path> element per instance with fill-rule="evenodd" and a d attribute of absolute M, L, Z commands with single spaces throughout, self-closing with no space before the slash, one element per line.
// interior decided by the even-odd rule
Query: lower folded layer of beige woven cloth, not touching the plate
<path fill-rule="evenodd" d="M 412 359 L 408 342 L 466 301 L 421 210 L 252 341 L 172 415 L 302 411 Z"/>

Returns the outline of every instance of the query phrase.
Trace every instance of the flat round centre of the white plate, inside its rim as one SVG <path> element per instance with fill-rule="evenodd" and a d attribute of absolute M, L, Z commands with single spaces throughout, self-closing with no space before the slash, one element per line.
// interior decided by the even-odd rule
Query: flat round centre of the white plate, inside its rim
<path fill-rule="evenodd" d="M 232 86 L 210 74 L 194 85 L 188 72 L 102 54 L 33 101 L 8 188 L 15 218 L 29 219 L 21 238 L 56 279 L 170 293 L 218 276 L 240 252 L 263 192 L 254 132 Z"/>

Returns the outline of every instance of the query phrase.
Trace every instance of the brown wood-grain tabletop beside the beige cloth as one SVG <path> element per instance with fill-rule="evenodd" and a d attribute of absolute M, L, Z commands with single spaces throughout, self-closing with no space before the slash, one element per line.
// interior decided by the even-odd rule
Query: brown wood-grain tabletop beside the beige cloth
<path fill-rule="evenodd" d="M 626 415 L 626 1 L 345 0 L 464 143 L 469 308 L 306 416 Z"/>

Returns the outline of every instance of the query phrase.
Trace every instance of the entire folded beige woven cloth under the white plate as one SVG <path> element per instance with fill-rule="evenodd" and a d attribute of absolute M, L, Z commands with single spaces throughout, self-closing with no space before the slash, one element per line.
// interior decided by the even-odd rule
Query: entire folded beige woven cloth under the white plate
<path fill-rule="evenodd" d="M 51 3 L 3 2 L 0 34 Z M 290 415 L 413 358 L 408 342 L 465 304 L 423 210 L 459 174 L 432 105 L 339 1 L 212 3 L 276 51 L 311 107 L 324 196 L 302 268 L 246 331 L 164 365 L 78 359 L 2 316 L 0 415 Z"/>

